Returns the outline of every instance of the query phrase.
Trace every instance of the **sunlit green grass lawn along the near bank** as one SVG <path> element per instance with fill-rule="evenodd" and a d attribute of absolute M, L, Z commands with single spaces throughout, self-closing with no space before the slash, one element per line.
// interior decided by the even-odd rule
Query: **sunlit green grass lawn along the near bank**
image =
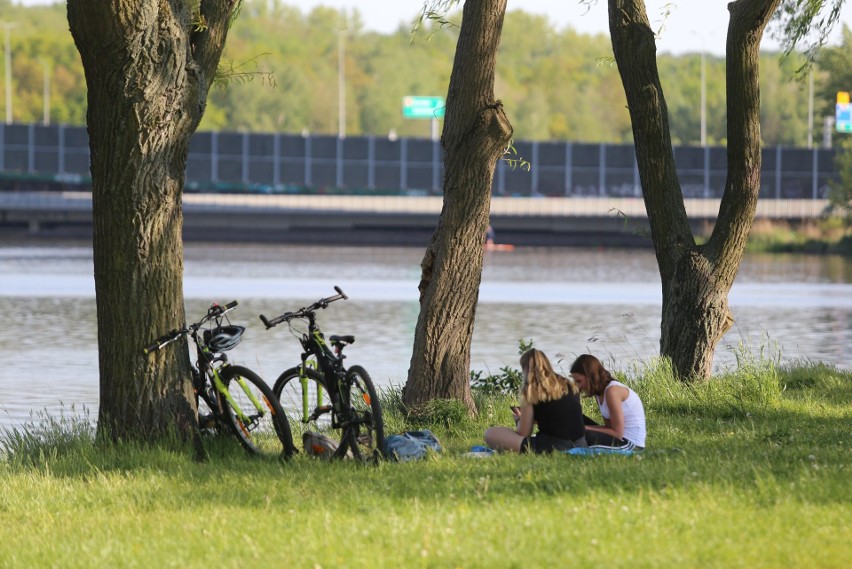
<path fill-rule="evenodd" d="M 252 460 L 213 440 L 99 447 L 85 421 L 0 435 L 0 567 L 845 567 L 852 556 L 852 373 L 740 360 L 687 386 L 664 361 L 635 456 L 470 458 L 512 398 L 478 396 L 388 430 L 440 455 L 370 467 Z M 81 426 L 82 424 L 82 426 Z"/>

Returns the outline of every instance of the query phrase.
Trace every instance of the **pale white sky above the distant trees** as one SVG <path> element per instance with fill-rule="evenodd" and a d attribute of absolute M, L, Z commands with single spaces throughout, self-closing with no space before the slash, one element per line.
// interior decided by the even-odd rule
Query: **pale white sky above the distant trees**
<path fill-rule="evenodd" d="M 22 4 L 50 4 L 56 0 L 17 0 Z M 728 24 L 729 0 L 645 0 L 651 27 L 660 34 L 658 53 L 698 53 L 705 51 L 724 55 Z M 357 8 L 365 27 L 378 32 L 396 31 L 400 24 L 408 26 L 423 7 L 423 0 L 282 0 L 299 6 L 302 12 L 323 5 L 352 10 Z M 509 11 L 546 15 L 558 29 L 567 26 L 582 33 L 609 34 L 606 0 L 592 0 L 589 8 L 580 0 L 509 0 Z M 670 10 L 665 15 L 665 10 Z M 840 42 L 842 23 L 852 27 L 852 2 L 847 1 L 841 13 L 841 25 L 832 34 L 833 44 Z M 768 33 L 763 49 L 780 49 Z"/>

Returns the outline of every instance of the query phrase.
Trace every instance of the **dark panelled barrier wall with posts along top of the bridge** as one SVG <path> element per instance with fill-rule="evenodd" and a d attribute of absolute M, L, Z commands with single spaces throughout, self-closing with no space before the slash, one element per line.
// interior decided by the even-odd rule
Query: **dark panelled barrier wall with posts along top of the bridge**
<path fill-rule="evenodd" d="M 86 185 L 89 141 L 83 127 L 0 124 L 0 178 Z M 516 141 L 527 171 L 500 161 L 495 196 L 639 197 L 632 145 Z M 718 199 L 727 176 L 724 147 L 674 149 L 685 198 Z M 763 150 L 760 196 L 827 197 L 837 178 L 835 151 Z M 190 143 L 189 192 L 261 194 L 439 195 L 438 141 L 417 138 L 199 132 Z"/>

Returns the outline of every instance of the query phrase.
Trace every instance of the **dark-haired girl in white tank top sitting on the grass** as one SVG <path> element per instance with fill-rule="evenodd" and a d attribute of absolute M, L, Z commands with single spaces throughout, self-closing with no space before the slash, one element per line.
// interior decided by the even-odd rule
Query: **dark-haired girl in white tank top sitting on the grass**
<path fill-rule="evenodd" d="M 645 448 L 645 409 L 635 391 L 612 378 L 596 357 L 583 354 L 571 365 L 580 391 L 594 397 L 604 419 L 598 425 L 584 416 L 589 447 L 642 450 Z"/>

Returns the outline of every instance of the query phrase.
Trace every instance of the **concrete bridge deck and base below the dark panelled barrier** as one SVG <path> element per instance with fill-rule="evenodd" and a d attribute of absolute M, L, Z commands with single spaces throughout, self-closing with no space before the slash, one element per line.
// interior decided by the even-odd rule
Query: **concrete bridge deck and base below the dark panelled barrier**
<path fill-rule="evenodd" d="M 435 230 L 440 196 L 184 194 L 184 238 L 423 246 Z M 718 199 L 686 199 L 693 231 L 709 231 Z M 757 218 L 819 217 L 826 200 L 761 199 Z M 540 246 L 650 246 L 641 198 L 494 197 L 497 241 Z M 91 193 L 0 192 L 3 234 L 88 237 Z"/>

